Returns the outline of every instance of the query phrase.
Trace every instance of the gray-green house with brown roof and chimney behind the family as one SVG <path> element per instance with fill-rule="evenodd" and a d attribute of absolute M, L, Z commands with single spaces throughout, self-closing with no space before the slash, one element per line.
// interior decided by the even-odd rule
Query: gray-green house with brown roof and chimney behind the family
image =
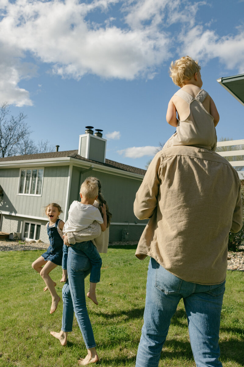
<path fill-rule="evenodd" d="M 48 243 L 44 207 L 56 202 L 67 220 L 70 204 L 79 200 L 86 177 L 95 176 L 112 212 L 109 240 L 138 240 L 147 221 L 133 212 L 145 170 L 105 159 L 106 139 L 87 127 L 77 150 L 0 159 L 0 230 L 15 238 Z"/>

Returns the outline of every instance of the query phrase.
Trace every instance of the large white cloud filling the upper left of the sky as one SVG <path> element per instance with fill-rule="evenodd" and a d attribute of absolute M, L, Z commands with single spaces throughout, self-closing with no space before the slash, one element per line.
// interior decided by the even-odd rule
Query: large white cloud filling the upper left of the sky
<path fill-rule="evenodd" d="M 168 58 L 170 40 L 155 26 L 133 29 L 115 26 L 115 19 L 109 11 L 119 2 L 93 0 L 88 4 L 78 0 L 0 0 L 3 9 L 0 43 L 15 50 L 10 63 L 14 70 L 10 88 L 13 98 L 6 94 L 8 101 L 31 104 L 29 93 L 18 90 L 18 83 L 26 75 L 18 73 L 17 64 L 27 52 L 41 62 L 49 63 L 52 72 L 64 78 L 79 80 L 86 73 L 127 80 L 138 76 L 151 78 L 155 67 Z M 130 3 L 130 0 L 125 3 Z M 108 15 L 103 23 L 87 20 L 94 10 Z M 153 11 L 155 14 L 157 7 Z M 8 90 L 5 85 L 0 86 L 2 94 Z"/>

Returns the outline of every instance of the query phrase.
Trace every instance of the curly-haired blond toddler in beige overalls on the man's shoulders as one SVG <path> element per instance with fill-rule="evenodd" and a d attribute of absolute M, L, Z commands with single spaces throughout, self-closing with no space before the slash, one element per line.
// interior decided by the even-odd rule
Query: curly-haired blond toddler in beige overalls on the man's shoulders
<path fill-rule="evenodd" d="M 201 89 L 201 67 L 189 56 L 172 61 L 170 66 L 170 77 L 180 90 L 170 99 L 166 113 L 167 122 L 176 127 L 176 132 L 163 149 L 173 145 L 193 145 L 215 150 L 219 114 L 213 99 Z"/>

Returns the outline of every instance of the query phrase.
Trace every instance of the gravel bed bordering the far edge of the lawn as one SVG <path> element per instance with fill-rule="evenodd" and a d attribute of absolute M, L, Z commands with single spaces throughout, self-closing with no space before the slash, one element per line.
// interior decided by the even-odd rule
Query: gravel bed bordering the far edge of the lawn
<path fill-rule="evenodd" d="M 117 241 L 109 245 L 112 246 L 134 246 L 136 241 Z M 19 241 L 0 241 L 0 251 L 27 251 L 27 250 L 46 250 L 49 244 L 47 243 L 30 243 Z M 244 271 L 244 246 L 240 246 L 239 251 L 228 251 L 228 270 L 240 270 Z"/>

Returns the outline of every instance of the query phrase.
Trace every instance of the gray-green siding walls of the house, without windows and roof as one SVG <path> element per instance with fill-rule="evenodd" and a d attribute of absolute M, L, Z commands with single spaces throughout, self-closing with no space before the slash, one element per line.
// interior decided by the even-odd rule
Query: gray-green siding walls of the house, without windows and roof
<path fill-rule="evenodd" d="M 100 179 L 102 183 L 102 193 L 108 202 L 110 211 L 113 214 L 112 223 L 115 223 L 115 225 L 112 225 L 110 228 L 110 241 L 120 241 L 122 239 L 122 230 L 124 228 L 128 228 L 128 222 L 133 224 L 135 222 L 147 222 L 139 221 L 133 212 L 135 195 L 142 179 L 125 177 L 123 176 L 123 171 L 121 171 L 121 176 L 110 174 L 108 172 L 100 172 L 95 169 L 84 173 L 82 173 L 82 171 L 84 171 L 84 168 L 76 166 L 72 167 L 68 208 L 72 201 L 79 200 L 80 184 L 85 178 L 94 176 Z M 65 211 L 69 166 L 44 166 L 42 196 L 17 195 L 19 172 L 19 168 L 4 168 L 0 170 L 0 185 L 4 190 L 3 202 L 0 203 L 0 211 L 13 212 L 17 216 L 18 214 L 21 214 L 45 218 L 44 207 L 52 201 L 60 204 L 63 211 Z M 60 215 L 60 218 L 64 219 L 63 214 Z M 10 220 L 11 217 L 8 217 L 7 221 L 3 221 L 5 229 L 3 228 L 2 230 L 10 229 Z M 16 223 L 18 222 L 17 227 L 21 227 L 21 230 L 23 221 L 35 222 L 35 220 L 28 218 L 19 217 L 16 219 L 14 216 L 12 216 L 12 221 L 15 221 L 12 222 L 12 228 L 15 228 Z M 116 223 L 122 224 L 116 225 Z M 20 230 L 12 228 L 11 232 L 20 232 Z M 130 225 L 129 240 L 139 239 L 143 229 L 144 226 Z M 6 230 L 6 232 L 9 232 L 9 230 Z M 47 242 L 44 222 L 41 225 L 40 239 Z"/>

